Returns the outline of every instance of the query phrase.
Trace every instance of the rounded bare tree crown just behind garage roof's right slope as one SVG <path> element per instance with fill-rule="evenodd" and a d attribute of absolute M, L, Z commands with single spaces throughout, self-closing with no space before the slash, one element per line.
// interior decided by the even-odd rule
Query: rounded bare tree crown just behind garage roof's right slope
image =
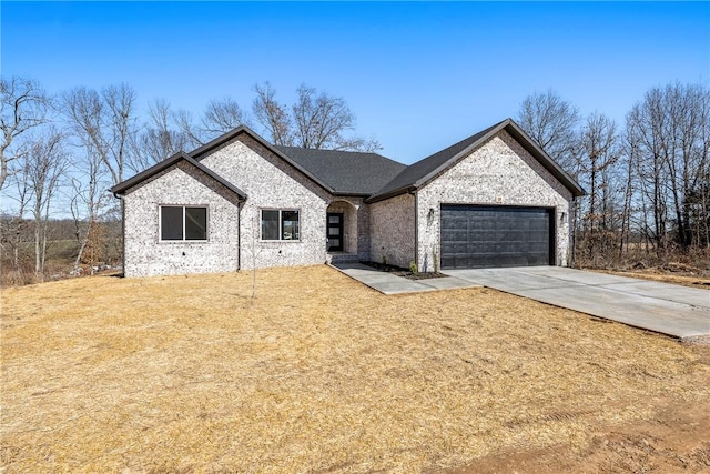
<path fill-rule="evenodd" d="M 557 92 L 535 92 L 525 98 L 518 112 L 518 124 L 566 171 L 576 174 L 575 133 L 579 110 Z"/>

